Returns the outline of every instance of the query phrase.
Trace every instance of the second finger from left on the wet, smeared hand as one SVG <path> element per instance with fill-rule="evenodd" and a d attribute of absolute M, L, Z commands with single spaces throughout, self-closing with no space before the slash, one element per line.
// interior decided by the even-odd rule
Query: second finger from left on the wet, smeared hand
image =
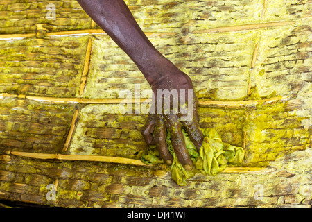
<path fill-rule="evenodd" d="M 166 124 L 164 123 L 164 120 L 160 117 L 160 115 L 157 115 L 154 142 L 157 146 L 160 157 L 162 157 L 166 164 L 171 165 L 173 162 L 173 157 L 168 151 L 166 137 Z"/>

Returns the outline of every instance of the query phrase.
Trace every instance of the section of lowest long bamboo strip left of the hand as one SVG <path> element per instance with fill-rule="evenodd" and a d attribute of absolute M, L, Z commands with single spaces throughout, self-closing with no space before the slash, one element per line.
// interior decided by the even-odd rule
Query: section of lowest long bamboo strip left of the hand
<path fill-rule="evenodd" d="M 136 166 L 148 166 L 141 162 L 141 160 L 133 160 L 124 157 L 107 157 L 100 155 L 63 155 L 58 153 L 28 153 L 28 152 L 19 152 L 12 151 L 12 155 L 18 155 L 22 157 L 31 157 L 41 160 L 80 160 L 80 161 L 95 161 L 95 162 L 112 162 L 117 164 L 130 164 Z"/>

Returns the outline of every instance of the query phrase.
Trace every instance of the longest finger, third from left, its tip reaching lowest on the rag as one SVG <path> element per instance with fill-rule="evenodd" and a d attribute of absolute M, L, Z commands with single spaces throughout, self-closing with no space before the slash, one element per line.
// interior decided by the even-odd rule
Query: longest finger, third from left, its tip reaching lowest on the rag
<path fill-rule="evenodd" d="M 185 146 L 181 123 L 178 117 L 174 114 L 168 115 L 168 119 L 166 119 L 166 121 L 170 130 L 171 144 L 175 150 L 177 159 L 182 164 L 184 169 L 190 171 L 193 168 L 193 162 L 191 161 L 187 147 Z"/>

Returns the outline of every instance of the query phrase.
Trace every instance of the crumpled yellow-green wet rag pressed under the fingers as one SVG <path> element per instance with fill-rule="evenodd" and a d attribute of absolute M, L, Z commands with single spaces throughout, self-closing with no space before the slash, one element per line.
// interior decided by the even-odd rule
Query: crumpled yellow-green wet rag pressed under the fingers
<path fill-rule="evenodd" d="M 173 150 L 170 140 L 170 133 L 167 131 L 166 142 L 168 150 L 173 155 L 173 163 L 171 164 L 171 178 L 177 182 L 177 185 L 187 185 L 187 179 L 193 177 L 196 172 L 204 175 L 216 175 L 227 167 L 227 164 L 241 164 L 245 151 L 241 147 L 232 146 L 223 143 L 220 135 L 214 128 L 206 128 L 202 130 L 204 141 L 198 153 L 196 146 L 191 142 L 189 135 L 182 130 L 187 151 L 193 162 L 193 169 L 186 171 L 182 164 L 177 160 L 177 155 Z M 159 156 L 159 152 L 155 145 L 149 146 L 145 153 L 141 155 L 141 160 L 146 164 L 159 164 L 164 161 Z"/>

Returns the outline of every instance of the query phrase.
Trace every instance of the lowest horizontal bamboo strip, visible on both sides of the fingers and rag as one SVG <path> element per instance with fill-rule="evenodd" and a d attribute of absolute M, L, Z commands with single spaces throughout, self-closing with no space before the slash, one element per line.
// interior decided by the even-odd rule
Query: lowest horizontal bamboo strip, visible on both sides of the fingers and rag
<path fill-rule="evenodd" d="M 130 164 L 136 166 L 152 166 L 146 165 L 141 160 L 133 160 L 123 157 L 107 157 L 107 156 L 97 156 L 97 155 L 62 155 L 53 153 L 27 153 L 12 151 L 12 155 L 17 155 L 21 157 L 31 157 L 40 160 L 78 160 L 78 161 L 94 161 L 94 162 L 112 162 L 117 164 Z M 271 173 L 275 171 L 275 168 L 264 168 L 264 167 L 227 167 L 221 173 Z M 166 171 L 164 171 L 165 173 Z M 157 173 L 157 175 L 164 176 L 164 173 Z M 155 174 L 155 176 L 157 176 Z"/>

